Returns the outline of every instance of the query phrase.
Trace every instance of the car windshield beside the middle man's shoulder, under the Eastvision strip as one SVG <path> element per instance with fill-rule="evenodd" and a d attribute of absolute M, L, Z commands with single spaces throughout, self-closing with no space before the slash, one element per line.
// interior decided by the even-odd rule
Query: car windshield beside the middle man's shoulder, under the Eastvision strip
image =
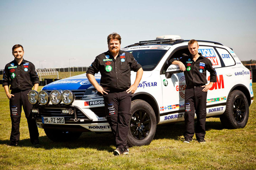
<path fill-rule="evenodd" d="M 133 54 L 135 60 L 142 66 L 144 71 L 151 71 L 165 55 L 167 50 L 147 49 L 147 50 L 125 50 Z"/>

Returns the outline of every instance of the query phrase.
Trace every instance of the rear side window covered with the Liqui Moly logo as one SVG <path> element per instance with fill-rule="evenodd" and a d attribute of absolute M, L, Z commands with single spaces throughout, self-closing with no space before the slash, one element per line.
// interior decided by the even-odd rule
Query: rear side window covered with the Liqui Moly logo
<path fill-rule="evenodd" d="M 202 54 L 202 56 L 211 60 L 212 66 L 214 68 L 221 67 L 221 61 L 215 49 L 213 47 L 208 46 L 199 46 L 198 52 Z"/>

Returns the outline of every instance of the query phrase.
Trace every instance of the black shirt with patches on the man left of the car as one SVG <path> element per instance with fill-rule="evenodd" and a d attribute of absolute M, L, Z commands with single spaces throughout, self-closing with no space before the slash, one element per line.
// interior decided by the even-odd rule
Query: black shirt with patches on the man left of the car
<path fill-rule="evenodd" d="M 20 65 L 16 60 L 6 64 L 3 74 L 3 86 L 9 86 L 10 80 L 11 90 L 28 90 L 35 83 L 39 83 L 34 64 L 24 59 Z"/>

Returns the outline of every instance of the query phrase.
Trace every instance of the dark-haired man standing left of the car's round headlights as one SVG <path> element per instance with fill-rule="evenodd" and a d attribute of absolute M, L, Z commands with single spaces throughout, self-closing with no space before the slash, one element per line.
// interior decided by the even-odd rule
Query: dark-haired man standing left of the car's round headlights
<path fill-rule="evenodd" d="M 32 119 L 31 108 L 33 105 L 29 103 L 27 95 L 34 85 L 34 90 L 37 91 L 39 78 L 35 72 L 33 63 L 23 59 L 24 50 L 19 44 L 12 47 L 12 55 L 14 60 L 6 64 L 3 74 L 3 87 L 7 98 L 10 100 L 10 112 L 12 121 L 12 130 L 9 144 L 17 146 L 19 142 L 20 132 L 19 123 L 21 117 L 22 106 L 27 118 L 29 126 L 30 141 L 34 145 L 39 145 L 39 133 L 35 120 Z M 11 94 L 9 92 L 9 82 L 11 80 Z"/>

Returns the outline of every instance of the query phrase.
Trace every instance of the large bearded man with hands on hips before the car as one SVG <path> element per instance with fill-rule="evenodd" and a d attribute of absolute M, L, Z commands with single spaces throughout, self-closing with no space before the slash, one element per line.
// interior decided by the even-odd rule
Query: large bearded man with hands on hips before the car
<path fill-rule="evenodd" d="M 129 154 L 127 136 L 131 118 L 131 97 L 137 90 L 143 70 L 129 52 L 120 50 L 121 37 L 108 36 L 108 51 L 96 57 L 86 72 L 90 83 L 103 95 L 106 118 L 116 138 L 115 155 Z M 131 85 L 131 70 L 137 72 Z M 101 73 L 101 86 L 94 78 Z"/>

